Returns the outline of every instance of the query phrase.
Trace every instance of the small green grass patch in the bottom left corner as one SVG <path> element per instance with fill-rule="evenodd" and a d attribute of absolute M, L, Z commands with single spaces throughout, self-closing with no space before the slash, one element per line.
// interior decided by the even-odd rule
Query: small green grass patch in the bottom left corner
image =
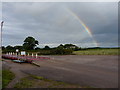
<path fill-rule="evenodd" d="M 14 78 L 15 74 L 10 70 L 2 70 L 2 88 L 5 88 Z"/>

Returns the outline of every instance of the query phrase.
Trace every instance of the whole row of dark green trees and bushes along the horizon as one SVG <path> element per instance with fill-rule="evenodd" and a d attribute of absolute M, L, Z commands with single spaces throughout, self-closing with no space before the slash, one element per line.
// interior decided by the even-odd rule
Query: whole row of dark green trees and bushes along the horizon
<path fill-rule="evenodd" d="M 50 48 L 48 45 L 46 45 L 44 48 L 37 47 L 39 45 L 38 40 L 36 40 L 34 37 L 27 37 L 23 41 L 23 45 L 21 46 L 2 46 L 2 52 L 16 52 L 16 49 L 19 49 L 19 51 L 26 51 L 26 52 L 37 52 L 40 55 L 55 55 L 55 54 L 72 54 L 73 51 L 80 50 L 81 48 L 74 45 L 74 44 L 60 44 L 57 47 Z"/>

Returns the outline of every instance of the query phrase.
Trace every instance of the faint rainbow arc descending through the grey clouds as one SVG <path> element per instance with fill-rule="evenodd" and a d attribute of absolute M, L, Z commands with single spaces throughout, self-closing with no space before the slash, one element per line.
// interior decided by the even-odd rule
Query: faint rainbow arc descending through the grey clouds
<path fill-rule="evenodd" d="M 92 38 L 93 43 L 95 44 L 95 46 L 98 46 L 98 43 L 96 42 L 96 40 L 94 39 L 92 32 L 90 31 L 90 29 L 84 24 L 84 22 L 80 19 L 80 17 L 78 17 L 77 14 L 75 14 L 73 11 L 71 11 L 69 8 L 66 8 L 66 10 L 76 18 L 76 20 L 78 20 L 78 22 L 83 26 L 83 28 L 86 30 L 86 32 L 89 34 L 89 36 Z"/>

